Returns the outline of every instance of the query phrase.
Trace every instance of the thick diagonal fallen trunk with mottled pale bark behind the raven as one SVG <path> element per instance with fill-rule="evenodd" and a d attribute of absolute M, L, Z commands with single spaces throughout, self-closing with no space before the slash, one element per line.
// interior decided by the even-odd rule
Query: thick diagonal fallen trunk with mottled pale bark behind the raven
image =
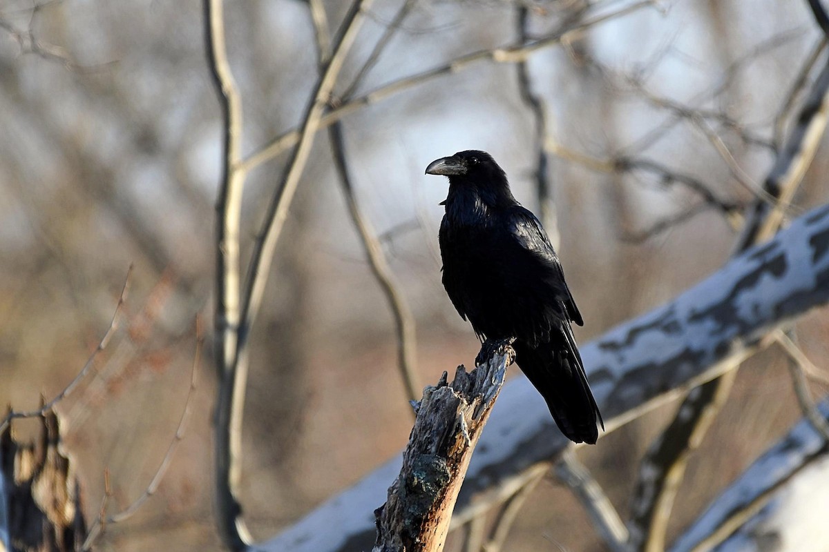
<path fill-rule="evenodd" d="M 720 375 L 734 359 L 753 353 L 764 335 L 825 305 L 827 253 L 824 206 L 666 305 L 581 347 L 607 430 Z M 469 465 L 453 526 L 511 496 L 525 482 L 526 468 L 566 445 L 530 382 L 508 382 Z M 400 457 L 385 463 L 259 550 L 366 550 L 375 538 L 371 512 L 399 467 Z"/>

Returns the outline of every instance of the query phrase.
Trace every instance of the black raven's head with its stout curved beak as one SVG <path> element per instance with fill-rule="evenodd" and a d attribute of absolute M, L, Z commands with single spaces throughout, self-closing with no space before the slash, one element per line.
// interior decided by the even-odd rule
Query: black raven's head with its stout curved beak
<path fill-rule="evenodd" d="M 473 192 L 487 204 L 514 202 L 507 174 L 486 151 L 458 151 L 429 163 L 427 175 L 449 178 L 449 198 L 455 193 Z"/>

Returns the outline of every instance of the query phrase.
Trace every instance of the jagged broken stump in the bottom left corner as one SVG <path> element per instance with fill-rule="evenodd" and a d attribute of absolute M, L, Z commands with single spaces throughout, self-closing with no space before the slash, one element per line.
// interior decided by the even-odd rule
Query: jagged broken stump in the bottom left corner
<path fill-rule="evenodd" d="M 40 446 L 0 432 L 0 550 L 78 550 L 86 530 L 75 470 L 61 450 L 57 415 L 42 415 Z"/>

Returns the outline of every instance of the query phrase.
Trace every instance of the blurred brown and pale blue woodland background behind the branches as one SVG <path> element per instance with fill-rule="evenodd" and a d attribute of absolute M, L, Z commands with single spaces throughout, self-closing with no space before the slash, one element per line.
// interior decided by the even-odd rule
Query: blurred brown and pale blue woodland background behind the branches
<path fill-rule="evenodd" d="M 349 3 L 324 2 L 332 28 Z M 806 2 L 794 0 L 406 4 L 396 22 L 401 2 L 374 3 L 334 99 L 635 7 L 537 50 L 526 65 L 482 60 L 342 120 L 356 202 L 414 314 L 421 384 L 471 365 L 479 347 L 440 283 L 447 183 L 423 174 L 430 161 L 465 149 L 499 161 L 516 198 L 559 243 L 586 342 L 727 260 L 740 209 L 768 174 L 790 122 L 786 103 L 822 36 Z M 318 79 L 314 31 L 298 0 L 228 0 L 225 20 L 248 156 L 301 122 Z M 118 331 L 58 408 L 90 519 L 105 471 L 114 510 L 148 486 L 187 399 L 197 317 L 206 339 L 169 472 L 135 516 L 107 527 L 99 550 L 221 549 L 211 507 L 211 329 L 222 123 L 203 24 L 195 0 L 0 2 L 0 403 L 32 408 L 63 389 L 104 335 L 133 265 Z M 539 105 L 547 185 L 536 177 Z M 789 214 L 826 202 L 826 149 Z M 246 181 L 243 259 L 287 157 Z M 811 314 L 799 329 L 821 367 L 827 317 Z M 395 339 L 320 132 L 251 337 L 241 499 L 258 540 L 405 445 L 411 415 Z M 675 406 L 579 450 L 623 517 L 638 459 Z M 751 359 L 691 459 L 669 539 L 799 417 L 783 355 Z M 14 427 L 32 431 L 27 421 Z M 523 506 L 507 550 L 604 549 L 579 503 L 550 478 Z"/>

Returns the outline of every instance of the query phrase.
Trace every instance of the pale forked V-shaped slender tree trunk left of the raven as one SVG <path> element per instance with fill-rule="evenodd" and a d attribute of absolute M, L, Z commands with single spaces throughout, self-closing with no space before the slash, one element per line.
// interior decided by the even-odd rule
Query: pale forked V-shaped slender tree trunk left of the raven
<path fill-rule="evenodd" d="M 299 184 L 319 128 L 319 120 L 337 83 L 337 75 L 364 20 L 371 0 L 351 5 L 342 32 L 333 41 L 330 58 L 318 79 L 288 170 L 271 199 L 255 239 L 244 287 L 240 284 L 239 223 L 242 188 L 251 166 L 240 160 L 241 98 L 236 89 L 225 46 L 221 0 L 205 0 L 206 44 L 211 72 L 219 91 L 225 126 L 225 160 L 217 200 L 216 236 L 216 358 L 220 367 L 216 404 L 216 495 L 222 539 L 231 550 L 242 550 L 252 540 L 236 499 L 240 481 L 241 430 L 245 405 L 250 329 L 261 305 L 269 267 L 288 206 Z M 320 16 L 319 10 L 316 12 Z M 318 36 L 318 41 L 321 40 Z"/>

